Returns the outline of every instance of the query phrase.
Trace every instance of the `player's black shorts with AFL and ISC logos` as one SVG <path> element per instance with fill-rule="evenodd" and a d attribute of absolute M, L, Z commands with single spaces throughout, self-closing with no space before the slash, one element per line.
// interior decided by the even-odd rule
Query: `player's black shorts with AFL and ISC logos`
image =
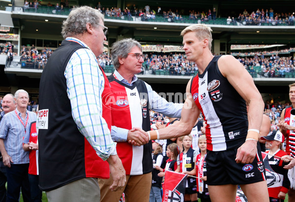
<path fill-rule="evenodd" d="M 251 184 L 266 180 L 266 172 L 259 144 L 251 164 L 237 164 L 236 149 L 225 151 L 207 150 L 207 184 Z"/>

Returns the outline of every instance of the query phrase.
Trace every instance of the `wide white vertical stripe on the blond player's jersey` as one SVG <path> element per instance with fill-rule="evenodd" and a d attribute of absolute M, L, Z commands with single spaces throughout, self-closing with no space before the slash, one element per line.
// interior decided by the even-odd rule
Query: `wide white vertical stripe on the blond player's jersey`
<path fill-rule="evenodd" d="M 204 80 L 205 80 L 205 83 L 202 85 L 202 82 Z M 212 138 L 212 150 L 223 151 L 223 150 L 226 150 L 225 137 L 224 137 L 223 128 L 222 128 L 220 119 L 214 110 L 212 101 L 209 97 L 209 92 L 207 91 L 208 82 L 211 82 L 211 81 L 208 81 L 208 72 L 206 72 L 203 79 L 199 78 L 198 99 L 202 106 L 204 115 L 207 119 L 207 124 L 209 124 L 210 126 L 210 134 Z M 205 93 L 205 96 L 204 96 L 204 93 Z"/>

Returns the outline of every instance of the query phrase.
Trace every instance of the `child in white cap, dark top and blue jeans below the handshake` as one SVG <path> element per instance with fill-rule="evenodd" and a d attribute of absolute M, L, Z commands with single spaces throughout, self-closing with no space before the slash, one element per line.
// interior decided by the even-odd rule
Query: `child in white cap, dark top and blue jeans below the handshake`
<path fill-rule="evenodd" d="M 152 141 L 152 162 L 153 162 L 153 171 L 152 171 L 152 181 L 151 189 L 149 194 L 149 202 L 162 202 L 161 197 L 161 184 L 163 177 L 158 176 L 160 173 L 159 170 L 156 170 L 155 167 L 161 167 L 163 161 L 163 140 Z"/>

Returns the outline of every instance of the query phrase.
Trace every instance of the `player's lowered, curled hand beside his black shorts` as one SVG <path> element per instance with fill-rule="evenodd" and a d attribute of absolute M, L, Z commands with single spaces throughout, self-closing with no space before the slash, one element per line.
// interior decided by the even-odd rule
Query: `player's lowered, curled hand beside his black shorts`
<path fill-rule="evenodd" d="M 236 163 L 252 163 L 257 153 L 257 141 L 247 140 L 236 152 Z"/>

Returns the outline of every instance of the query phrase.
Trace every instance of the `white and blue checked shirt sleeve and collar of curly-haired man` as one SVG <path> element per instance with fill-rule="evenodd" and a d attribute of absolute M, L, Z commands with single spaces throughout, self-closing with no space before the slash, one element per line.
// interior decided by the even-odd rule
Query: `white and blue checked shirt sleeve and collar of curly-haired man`
<path fill-rule="evenodd" d="M 66 40 L 88 47 L 77 38 L 68 37 Z M 88 49 L 79 49 L 71 56 L 64 76 L 67 95 L 71 102 L 72 116 L 79 131 L 103 160 L 106 160 L 110 155 L 116 155 L 116 144 L 113 142 L 108 125 L 102 117 L 101 95 L 104 90 L 104 76 L 89 47 Z"/>

